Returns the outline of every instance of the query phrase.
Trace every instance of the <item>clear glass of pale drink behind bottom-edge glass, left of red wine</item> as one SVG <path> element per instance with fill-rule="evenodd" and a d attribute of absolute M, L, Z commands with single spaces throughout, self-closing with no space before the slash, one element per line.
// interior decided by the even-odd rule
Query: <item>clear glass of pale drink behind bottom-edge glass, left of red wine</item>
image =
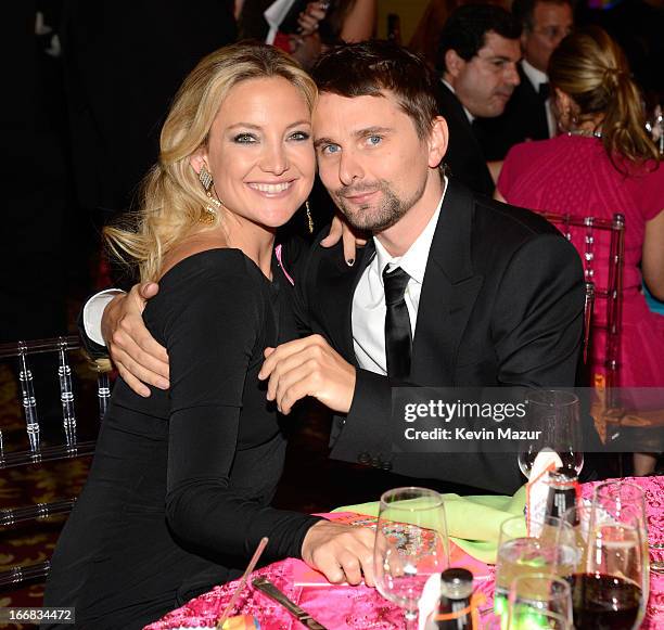
<path fill-rule="evenodd" d="M 494 609 L 507 623 L 508 594 L 511 583 L 520 576 L 554 575 L 558 565 L 559 519 L 547 524 L 531 524 L 535 533 L 526 531 L 525 518 L 514 516 L 500 526 L 496 560 Z"/>

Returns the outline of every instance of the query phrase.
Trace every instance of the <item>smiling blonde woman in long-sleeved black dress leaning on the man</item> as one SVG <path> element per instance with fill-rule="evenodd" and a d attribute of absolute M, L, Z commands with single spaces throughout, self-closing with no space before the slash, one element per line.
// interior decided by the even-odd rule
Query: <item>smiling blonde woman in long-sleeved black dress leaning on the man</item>
<path fill-rule="evenodd" d="M 142 628 L 267 561 L 302 556 L 331 580 L 371 578 L 369 531 L 271 509 L 285 441 L 257 378 L 292 336 L 276 229 L 314 181 L 311 79 L 288 55 L 237 44 L 178 92 L 137 216 L 105 236 L 141 279 L 170 389 L 116 385 L 88 483 L 53 555 L 44 605 L 80 628 Z M 52 626 L 50 626 L 52 627 Z"/>

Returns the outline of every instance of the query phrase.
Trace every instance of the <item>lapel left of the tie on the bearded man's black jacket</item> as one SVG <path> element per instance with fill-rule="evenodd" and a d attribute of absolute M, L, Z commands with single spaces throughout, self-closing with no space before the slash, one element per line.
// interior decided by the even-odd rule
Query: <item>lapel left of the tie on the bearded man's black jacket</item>
<path fill-rule="evenodd" d="M 341 246 L 325 253 L 320 261 L 320 282 L 316 287 L 318 304 L 315 309 L 324 322 L 323 330 L 330 335 L 331 344 L 354 365 L 357 365 L 357 359 L 353 347 L 353 296 L 374 254 L 375 248 L 370 239 L 358 250 L 353 267 L 346 265 Z"/>

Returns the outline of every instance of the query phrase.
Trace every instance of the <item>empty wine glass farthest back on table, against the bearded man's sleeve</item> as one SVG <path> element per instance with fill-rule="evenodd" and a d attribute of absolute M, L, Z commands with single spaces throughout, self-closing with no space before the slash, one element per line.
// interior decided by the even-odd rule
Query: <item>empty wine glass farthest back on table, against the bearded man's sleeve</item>
<path fill-rule="evenodd" d="M 537 389 L 528 391 L 525 403 L 527 428 L 538 432 L 536 439 L 520 442 L 519 467 L 526 479 L 545 448 L 557 452 L 563 467 L 578 475 L 584 467 L 578 397 L 563 389 Z"/>

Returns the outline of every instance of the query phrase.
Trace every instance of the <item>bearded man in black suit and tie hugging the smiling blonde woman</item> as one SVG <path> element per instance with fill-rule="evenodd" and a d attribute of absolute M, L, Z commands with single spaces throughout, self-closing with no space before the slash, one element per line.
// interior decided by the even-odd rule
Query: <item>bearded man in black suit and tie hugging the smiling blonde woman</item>
<path fill-rule="evenodd" d="M 443 175 L 447 125 L 422 60 L 362 42 L 324 55 L 315 78 L 320 177 L 348 222 L 373 237 L 353 265 L 341 244 L 317 242 L 291 268 L 308 336 L 266 350 L 267 397 L 286 414 L 307 396 L 336 412 L 333 458 L 514 491 L 515 453 L 393 453 L 393 388 L 572 386 L 584 311 L 578 256 L 542 218 Z M 115 298 L 105 329 L 124 319 L 123 336 L 154 356 L 105 338 L 125 370 L 156 384 L 151 372 L 168 373 L 165 350 L 148 338 L 138 296 Z"/>

